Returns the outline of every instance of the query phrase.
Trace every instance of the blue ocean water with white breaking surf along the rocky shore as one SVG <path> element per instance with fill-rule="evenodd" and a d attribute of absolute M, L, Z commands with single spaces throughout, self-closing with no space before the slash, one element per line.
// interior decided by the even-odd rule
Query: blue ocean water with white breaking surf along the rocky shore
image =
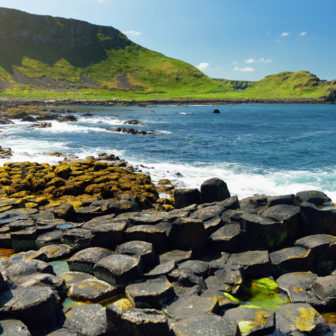
<path fill-rule="evenodd" d="M 221 113 L 213 114 L 214 108 Z M 240 198 L 315 189 L 336 201 L 336 105 L 81 107 L 76 111 L 78 122 L 53 121 L 47 129 L 31 129 L 24 122 L 2 125 L 0 145 L 14 151 L 12 161 L 56 163 L 60 158 L 46 153 L 85 158 L 107 152 L 148 167 L 141 169 L 153 181 L 168 178 L 180 188 L 200 187 L 205 180 L 219 177 Z M 83 117 L 86 112 L 94 116 Z M 157 134 L 106 130 L 131 119 L 146 126 L 123 126 Z"/>

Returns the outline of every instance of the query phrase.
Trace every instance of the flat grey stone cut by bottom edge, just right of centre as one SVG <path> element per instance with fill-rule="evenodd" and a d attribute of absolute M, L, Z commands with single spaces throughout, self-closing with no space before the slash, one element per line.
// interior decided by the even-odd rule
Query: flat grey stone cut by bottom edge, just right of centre
<path fill-rule="evenodd" d="M 216 315 L 191 317 L 172 324 L 171 330 L 175 336 L 240 336 L 237 324 Z"/>

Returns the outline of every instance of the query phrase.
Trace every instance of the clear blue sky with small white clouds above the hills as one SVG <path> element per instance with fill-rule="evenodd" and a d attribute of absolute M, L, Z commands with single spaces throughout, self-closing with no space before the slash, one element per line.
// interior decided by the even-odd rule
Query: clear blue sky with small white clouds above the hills
<path fill-rule="evenodd" d="M 335 0 L 0 0 L 0 7 L 112 26 L 212 78 L 300 70 L 336 78 Z"/>

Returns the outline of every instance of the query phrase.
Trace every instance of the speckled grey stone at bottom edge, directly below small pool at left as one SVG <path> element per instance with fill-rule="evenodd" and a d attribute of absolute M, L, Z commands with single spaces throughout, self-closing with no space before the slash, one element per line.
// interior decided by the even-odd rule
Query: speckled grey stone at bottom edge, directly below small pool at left
<path fill-rule="evenodd" d="M 105 308 L 100 304 L 72 308 L 65 314 L 62 327 L 82 336 L 105 336 L 107 331 Z"/>

